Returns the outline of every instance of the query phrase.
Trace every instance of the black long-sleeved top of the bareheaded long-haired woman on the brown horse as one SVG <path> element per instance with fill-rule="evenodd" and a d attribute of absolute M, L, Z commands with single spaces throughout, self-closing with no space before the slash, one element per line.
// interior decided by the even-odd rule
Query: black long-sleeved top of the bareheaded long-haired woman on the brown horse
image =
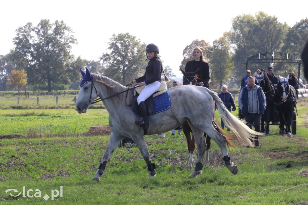
<path fill-rule="evenodd" d="M 203 62 L 203 61 L 188 61 L 185 65 L 185 72 L 195 72 L 198 68 L 201 68 L 198 71 L 198 77 L 200 78 L 198 80 L 199 82 L 203 82 L 204 87 L 209 88 L 209 80 L 210 80 L 210 68 L 209 68 L 209 63 Z"/>

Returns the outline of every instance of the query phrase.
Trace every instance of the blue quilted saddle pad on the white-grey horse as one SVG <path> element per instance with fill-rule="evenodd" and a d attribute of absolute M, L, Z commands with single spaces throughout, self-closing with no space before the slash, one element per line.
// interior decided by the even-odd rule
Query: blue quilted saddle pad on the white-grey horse
<path fill-rule="evenodd" d="M 154 97 L 153 98 L 153 104 L 154 104 L 154 113 L 153 114 L 168 110 L 171 106 L 170 95 L 169 95 L 168 89 L 164 94 L 161 94 L 161 95 Z M 137 114 L 136 110 L 132 106 L 131 106 L 131 109 L 132 109 L 132 112 L 135 115 L 140 117 L 140 115 Z"/>

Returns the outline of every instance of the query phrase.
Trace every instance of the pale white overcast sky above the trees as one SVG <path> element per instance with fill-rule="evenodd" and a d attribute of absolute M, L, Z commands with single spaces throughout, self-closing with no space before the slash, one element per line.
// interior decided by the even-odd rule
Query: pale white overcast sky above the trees
<path fill-rule="evenodd" d="M 298 4 L 298 2 L 306 2 Z M 276 5 L 277 4 L 277 5 Z M 16 29 L 41 19 L 63 20 L 75 32 L 75 57 L 97 61 L 106 52 L 112 34 L 129 33 L 160 49 L 164 66 L 182 77 L 179 66 L 183 50 L 193 40 L 213 41 L 231 30 L 232 18 L 258 11 L 276 16 L 293 26 L 307 18 L 308 1 L 182 1 L 182 0 L 101 0 L 101 1 L 2 1 L 0 12 L 0 54 L 14 47 Z M 243 61 L 247 56 L 243 56 Z M 78 71 L 78 68 L 76 68 Z"/>

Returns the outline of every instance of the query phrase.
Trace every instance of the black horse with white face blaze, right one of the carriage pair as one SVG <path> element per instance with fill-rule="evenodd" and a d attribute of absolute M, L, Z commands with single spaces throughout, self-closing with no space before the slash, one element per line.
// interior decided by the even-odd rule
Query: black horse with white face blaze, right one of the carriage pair
<path fill-rule="evenodd" d="M 280 81 L 275 90 L 275 102 L 280 118 L 279 134 L 292 137 L 291 124 L 294 107 L 296 105 L 296 92 L 286 78 L 279 77 Z M 286 125 L 286 128 L 284 127 Z"/>

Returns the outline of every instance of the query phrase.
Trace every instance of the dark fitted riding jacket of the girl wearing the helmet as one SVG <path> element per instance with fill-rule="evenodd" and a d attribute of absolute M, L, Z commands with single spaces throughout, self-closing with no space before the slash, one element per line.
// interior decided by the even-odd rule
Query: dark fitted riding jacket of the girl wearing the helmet
<path fill-rule="evenodd" d="M 136 82 L 144 82 L 146 85 L 149 85 L 155 81 L 161 82 L 161 73 L 163 72 L 163 64 L 158 59 L 154 57 L 148 62 L 148 66 L 145 68 L 145 73 L 140 78 L 136 78 Z"/>

